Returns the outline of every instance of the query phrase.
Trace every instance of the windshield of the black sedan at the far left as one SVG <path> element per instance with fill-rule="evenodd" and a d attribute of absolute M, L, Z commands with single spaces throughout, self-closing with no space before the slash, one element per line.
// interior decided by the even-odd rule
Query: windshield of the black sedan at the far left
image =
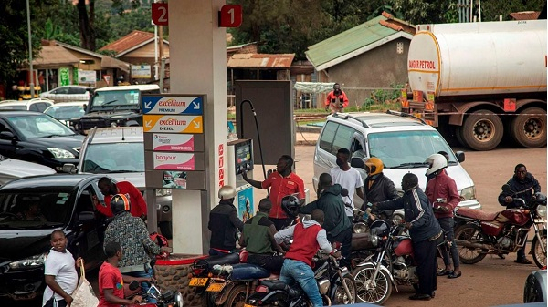
<path fill-rule="evenodd" d="M 7 118 L 7 120 L 25 138 L 64 137 L 75 134 L 57 119 L 44 114 L 16 115 Z"/>

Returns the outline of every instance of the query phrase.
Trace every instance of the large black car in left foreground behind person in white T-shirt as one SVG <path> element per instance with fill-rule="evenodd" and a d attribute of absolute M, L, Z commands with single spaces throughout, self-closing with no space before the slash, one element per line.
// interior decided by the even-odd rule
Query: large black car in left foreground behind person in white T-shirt
<path fill-rule="evenodd" d="M 0 188 L 0 301 L 41 298 L 53 230 L 65 232 L 68 251 L 82 257 L 86 269 L 100 265 L 106 222 L 92 202 L 93 196 L 103 200 L 99 179 L 55 174 L 16 179 Z"/>

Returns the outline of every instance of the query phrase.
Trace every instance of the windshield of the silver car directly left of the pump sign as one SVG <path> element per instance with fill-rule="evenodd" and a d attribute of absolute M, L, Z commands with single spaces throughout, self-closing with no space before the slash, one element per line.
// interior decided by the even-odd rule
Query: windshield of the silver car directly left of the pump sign
<path fill-rule="evenodd" d="M 81 165 L 85 173 L 130 173 L 144 171 L 142 142 L 89 144 Z"/>

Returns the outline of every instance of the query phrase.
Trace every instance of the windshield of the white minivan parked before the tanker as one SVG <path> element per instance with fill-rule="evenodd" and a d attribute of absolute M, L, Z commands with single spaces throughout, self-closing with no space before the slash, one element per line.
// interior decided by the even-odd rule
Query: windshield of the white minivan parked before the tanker
<path fill-rule="evenodd" d="M 385 164 L 385 169 L 426 168 L 428 156 L 445 151 L 449 165 L 458 164 L 453 150 L 437 131 L 397 131 L 370 133 L 369 155 Z"/>

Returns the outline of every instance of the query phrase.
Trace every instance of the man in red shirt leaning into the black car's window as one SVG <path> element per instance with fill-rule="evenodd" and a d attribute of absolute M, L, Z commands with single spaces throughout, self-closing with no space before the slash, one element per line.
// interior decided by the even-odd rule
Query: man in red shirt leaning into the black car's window
<path fill-rule="evenodd" d="M 107 218 L 111 218 L 114 216 L 111 210 L 111 198 L 116 194 L 126 194 L 129 196 L 130 201 L 132 202 L 132 207 L 130 211 L 132 213 L 132 216 L 136 218 L 142 218 L 143 220 L 146 218 L 146 202 L 142 197 L 141 191 L 135 188 L 135 186 L 132 185 L 131 182 L 120 181 L 114 184 L 114 182 L 112 182 L 110 178 L 102 177 L 99 179 L 97 185 L 99 186 L 102 195 L 105 196 L 105 203 L 104 205 L 101 204 L 97 197 L 94 197 L 93 201 L 95 203 L 95 208 L 97 208 L 97 210 L 100 211 L 100 213 L 105 215 Z"/>

